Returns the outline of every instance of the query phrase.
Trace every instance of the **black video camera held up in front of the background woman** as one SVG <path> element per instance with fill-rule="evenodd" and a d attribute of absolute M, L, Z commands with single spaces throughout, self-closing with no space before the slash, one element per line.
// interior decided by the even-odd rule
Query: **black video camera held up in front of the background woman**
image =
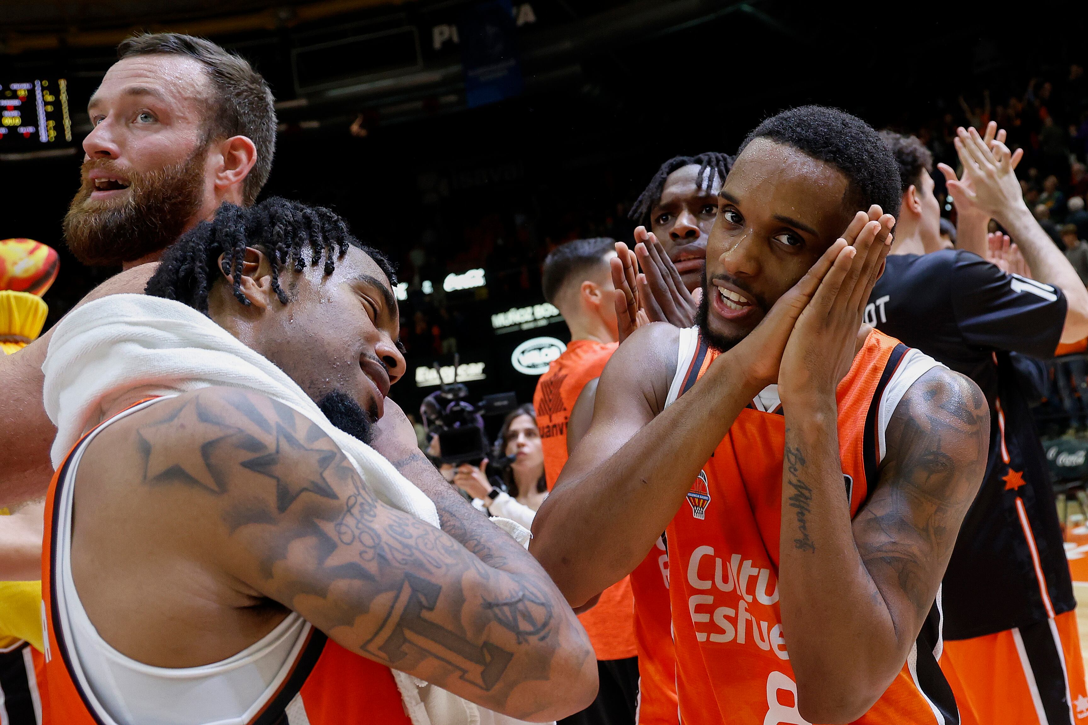
<path fill-rule="evenodd" d="M 434 366 L 437 368 L 438 364 L 435 363 Z M 457 368 L 455 360 L 454 371 Z M 455 372 L 453 383 L 443 383 L 419 407 L 426 432 L 438 438 L 438 463 L 469 463 L 479 466 L 483 459 L 492 455 L 483 416 L 505 415 L 518 407 L 518 398 L 514 392 L 484 396 L 475 404 L 470 403 L 468 398 L 469 389 L 463 383 L 457 382 Z"/>

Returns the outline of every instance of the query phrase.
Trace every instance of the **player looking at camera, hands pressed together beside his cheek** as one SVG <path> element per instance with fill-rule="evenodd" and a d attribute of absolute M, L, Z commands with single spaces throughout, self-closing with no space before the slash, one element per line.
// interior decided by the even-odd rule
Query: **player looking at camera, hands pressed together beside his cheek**
<path fill-rule="evenodd" d="M 955 720 L 934 603 L 989 414 L 967 378 L 863 327 L 901 195 L 854 116 L 803 107 L 752 132 L 695 326 L 619 346 L 533 522 L 569 603 L 640 584 L 640 668 L 664 665 L 688 725 Z M 662 580 L 663 530 L 657 608 L 641 583 Z"/>

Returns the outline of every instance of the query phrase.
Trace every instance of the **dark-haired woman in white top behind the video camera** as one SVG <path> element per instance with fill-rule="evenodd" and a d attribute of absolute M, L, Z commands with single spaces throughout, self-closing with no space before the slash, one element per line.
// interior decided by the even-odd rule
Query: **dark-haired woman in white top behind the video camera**
<path fill-rule="evenodd" d="M 505 491 L 487 480 L 487 459 L 480 467 L 468 463 L 457 466 L 454 483 L 491 515 L 510 518 L 531 528 L 536 510 L 547 498 L 544 449 L 536 428 L 536 411 L 531 403 L 520 405 L 506 416 L 495 449 L 498 454 L 514 459 L 503 468 Z"/>

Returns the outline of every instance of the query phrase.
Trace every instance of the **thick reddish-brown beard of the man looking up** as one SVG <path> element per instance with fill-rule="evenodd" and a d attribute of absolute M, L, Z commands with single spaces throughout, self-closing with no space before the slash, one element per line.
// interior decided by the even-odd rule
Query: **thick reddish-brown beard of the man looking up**
<path fill-rule="evenodd" d="M 112 159 L 83 162 L 83 185 L 64 215 L 64 238 L 84 264 L 116 265 L 174 243 L 203 199 L 206 143 L 177 164 L 148 173 L 126 172 L 128 197 L 120 202 L 90 198 L 95 168 L 116 171 Z"/>

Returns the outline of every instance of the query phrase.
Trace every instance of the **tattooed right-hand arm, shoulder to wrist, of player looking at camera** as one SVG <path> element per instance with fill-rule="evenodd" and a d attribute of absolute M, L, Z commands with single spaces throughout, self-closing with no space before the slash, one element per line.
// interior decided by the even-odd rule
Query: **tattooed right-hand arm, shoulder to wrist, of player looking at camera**
<path fill-rule="evenodd" d="M 968 378 L 922 376 L 888 425 L 875 490 L 853 523 L 836 409 L 784 407 L 782 629 L 809 722 L 851 722 L 906 661 L 986 471 L 989 411 Z"/>

